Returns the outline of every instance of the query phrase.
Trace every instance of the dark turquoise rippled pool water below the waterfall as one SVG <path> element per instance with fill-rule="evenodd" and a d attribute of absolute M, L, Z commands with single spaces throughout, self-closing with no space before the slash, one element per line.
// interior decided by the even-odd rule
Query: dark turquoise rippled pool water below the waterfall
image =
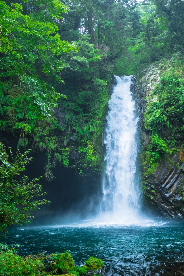
<path fill-rule="evenodd" d="M 19 252 L 69 250 L 77 265 L 89 256 L 104 261 L 102 275 L 184 275 L 184 222 L 162 221 L 157 226 L 51 226 L 11 229 L 8 244 Z"/>

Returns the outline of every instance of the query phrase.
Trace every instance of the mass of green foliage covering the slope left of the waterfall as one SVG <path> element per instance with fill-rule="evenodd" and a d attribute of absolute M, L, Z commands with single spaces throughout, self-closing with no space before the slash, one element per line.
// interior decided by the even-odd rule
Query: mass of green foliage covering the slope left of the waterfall
<path fill-rule="evenodd" d="M 51 168 L 57 160 L 69 166 L 70 131 L 84 148 L 87 141 L 98 139 L 112 68 L 109 49 L 89 43 L 89 35 L 79 35 L 73 44 L 61 40 L 59 22 L 64 27 L 66 12 L 65 17 L 71 11 L 55 0 L 23 5 L 1 1 L 0 128 L 18 138 L 18 148 L 31 143 L 46 150 L 48 180 L 53 179 Z M 54 117 L 61 97 L 66 128 Z"/>

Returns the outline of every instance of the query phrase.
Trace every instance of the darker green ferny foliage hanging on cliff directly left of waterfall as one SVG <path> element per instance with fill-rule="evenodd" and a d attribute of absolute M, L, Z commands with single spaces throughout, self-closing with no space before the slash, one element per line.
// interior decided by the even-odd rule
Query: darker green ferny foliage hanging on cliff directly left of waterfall
<path fill-rule="evenodd" d="M 67 100 L 61 99 L 60 106 L 66 114 L 68 131 L 63 138 L 64 149 L 61 150 L 61 156 L 66 147 L 70 151 L 75 147 L 75 151 L 80 153 L 80 160 L 76 160 L 74 167 L 83 174 L 87 168 L 99 170 L 102 160 L 99 136 L 103 131 L 101 119 L 109 99 L 107 85 L 111 81 L 112 66 L 107 60 L 106 50 L 96 49 L 89 43 L 88 36 L 73 41 L 73 44 L 77 46 L 78 52 L 64 56 L 63 93 Z M 72 141 L 70 136 L 73 137 Z"/>

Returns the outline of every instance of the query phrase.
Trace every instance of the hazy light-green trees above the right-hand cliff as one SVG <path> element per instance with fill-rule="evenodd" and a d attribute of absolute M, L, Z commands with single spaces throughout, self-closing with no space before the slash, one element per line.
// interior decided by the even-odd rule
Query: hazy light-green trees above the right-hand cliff
<path fill-rule="evenodd" d="M 134 12 L 137 32 L 129 34 L 130 43 L 116 60 L 118 75 L 137 75 L 153 62 L 183 51 L 183 1 L 141 1 Z"/>

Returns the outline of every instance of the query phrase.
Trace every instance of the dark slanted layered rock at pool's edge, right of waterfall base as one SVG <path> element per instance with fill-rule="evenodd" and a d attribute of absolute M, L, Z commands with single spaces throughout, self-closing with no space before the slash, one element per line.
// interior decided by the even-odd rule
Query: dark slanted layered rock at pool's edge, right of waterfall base
<path fill-rule="evenodd" d="M 182 150 L 181 150 L 182 151 Z M 147 179 L 146 195 L 157 205 L 163 216 L 184 218 L 184 163 L 179 160 L 180 153 L 171 158 L 172 163 L 161 161 L 154 173 Z"/>

